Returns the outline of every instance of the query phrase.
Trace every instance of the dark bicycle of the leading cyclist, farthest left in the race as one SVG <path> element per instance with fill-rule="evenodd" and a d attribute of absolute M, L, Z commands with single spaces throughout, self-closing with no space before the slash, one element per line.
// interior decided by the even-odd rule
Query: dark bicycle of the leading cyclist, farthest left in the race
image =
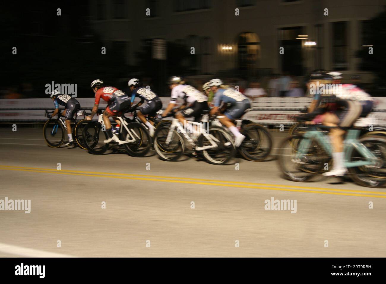
<path fill-rule="evenodd" d="M 54 111 L 47 111 L 44 114 L 44 117 L 48 117 L 49 114 L 52 114 Z M 79 145 L 80 148 L 86 149 L 85 143 L 83 143 L 82 133 L 83 128 L 86 123 L 88 123 L 88 120 L 85 119 L 86 111 L 83 111 L 83 119 L 80 121 L 77 121 L 77 116 L 81 116 L 82 111 L 77 111 L 75 113 L 75 118 L 71 119 L 71 129 L 72 129 L 72 135 L 73 139 L 76 141 L 76 143 Z M 49 118 L 46 123 L 43 126 L 43 136 L 44 140 L 46 141 L 47 145 L 51 148 L 59 148 L 63 145 L 64 140 L 66 138 L 67 134 L 67 126 L 64 122 L 64 119 L 62 118 L 61 112 L 58 112 L 58 117 L 55 118 Z"/>

